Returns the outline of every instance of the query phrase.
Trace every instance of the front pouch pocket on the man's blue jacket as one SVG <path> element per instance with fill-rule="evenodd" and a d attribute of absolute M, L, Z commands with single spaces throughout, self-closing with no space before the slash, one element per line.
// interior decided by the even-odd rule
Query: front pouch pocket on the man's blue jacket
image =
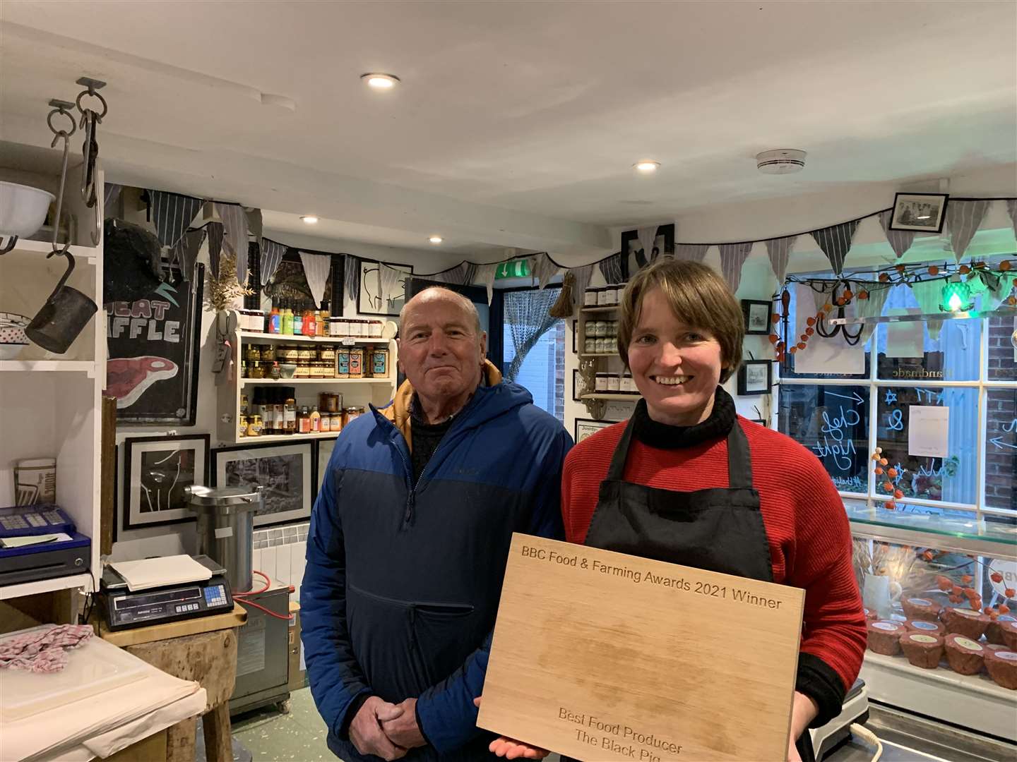
<path fill-rule="evenodd" d="M 477 633 L 474 608 L 466 604 L 415 602 L 411 622 L 417 654 L 428 685 L 434 685 L 463 665 L 485 633 Z"/>

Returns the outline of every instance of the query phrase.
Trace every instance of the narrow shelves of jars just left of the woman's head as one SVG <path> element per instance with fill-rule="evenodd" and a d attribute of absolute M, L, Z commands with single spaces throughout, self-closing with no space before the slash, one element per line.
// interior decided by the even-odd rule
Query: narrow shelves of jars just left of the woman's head
<path fill-rule="evenodd" d="M 620 362 L 614 351 L 617 344 L 617 304 L 582 307 L 576 323 L 579 372 L 586 390 L 580 394 L 580 399 L 591 418 L 597 420 L 603 419 L 607 402 L 635 402 L 640 398 L 635 385 L 632 392 L 621 391 L 621 386 L 630 383 L 632 377 L 625 376 L 620 367 L 612 371 L 612 366 L 618 366 Z M 608 385 L 607 388 L 597 389 L 598 376 Z M 617 388 L 611 388 L 615 386 L 612 381 L 616 382 Z"/>

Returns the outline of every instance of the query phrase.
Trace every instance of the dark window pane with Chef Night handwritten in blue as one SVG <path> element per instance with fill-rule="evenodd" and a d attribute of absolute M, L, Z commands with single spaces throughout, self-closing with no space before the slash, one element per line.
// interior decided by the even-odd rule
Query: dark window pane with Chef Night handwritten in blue
<path fill-rule="evenodd" d="M 782 384 L 779 429 L 809 448 L 841 492 L 869 492 L 869 387 Z"/>

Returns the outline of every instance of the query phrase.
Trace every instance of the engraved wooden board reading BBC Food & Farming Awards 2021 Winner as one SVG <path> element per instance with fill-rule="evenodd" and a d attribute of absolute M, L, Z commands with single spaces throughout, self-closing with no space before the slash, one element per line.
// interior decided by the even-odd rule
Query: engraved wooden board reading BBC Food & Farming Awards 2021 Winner
<path fill-rule="evenodd" d="M 804 592 L 513 536 L 477 724 L 581 760 L 783 760 Z"/>

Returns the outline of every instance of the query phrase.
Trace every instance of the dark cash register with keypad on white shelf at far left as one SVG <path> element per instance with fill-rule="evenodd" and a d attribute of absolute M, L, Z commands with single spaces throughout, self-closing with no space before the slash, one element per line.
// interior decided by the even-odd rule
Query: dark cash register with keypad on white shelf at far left
<path fill-rule="evenodd" d="M 92 541 L 53 503 L 0 508 L 0 585 L 80 574 Z"/>

